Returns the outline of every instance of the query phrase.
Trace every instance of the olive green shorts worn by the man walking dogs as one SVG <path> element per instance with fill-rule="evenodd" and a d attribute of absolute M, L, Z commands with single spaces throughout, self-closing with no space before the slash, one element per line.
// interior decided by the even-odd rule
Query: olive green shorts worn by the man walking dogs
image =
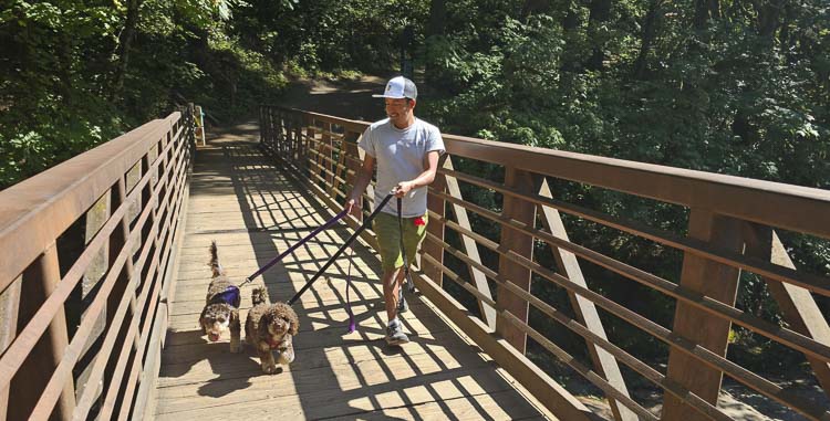
<path fill-rule="evenodd" d="M 418 220 L 421 222 L 418 222 Z M 423 223 L 422 223 L 423 222 Z M 404 248 L 406 249 L 406 261 L 412 265 L 415 262 L 415 252 L 418 244 L 426 236 L 427 215 L 404 218 Z M 397 215 L 381 212 L 372 221 L 372 229 L 377 235 L 377 244 L 381 248 L 381 265 L 384 272 L 392 272 L 404 266 L 404 257 L 401 253 L 401 228 Z"/>

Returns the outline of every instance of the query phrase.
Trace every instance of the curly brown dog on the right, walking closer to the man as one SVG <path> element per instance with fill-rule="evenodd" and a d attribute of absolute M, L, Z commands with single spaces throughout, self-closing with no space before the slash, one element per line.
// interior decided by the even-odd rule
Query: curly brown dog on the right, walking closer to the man
<path fill-rule="evenodd" d="M 245 340 L 257 349 L 262 372 L 277 372 L 277 364 L 294 361 L 293 336 L 300 329 L 297 313 L 286 303 L 269 304 L 268 292 L 263 286 L 251 294 L 253 308 L 245 320 Z M 273 359 L 272 350 L 278 352 Z"/>

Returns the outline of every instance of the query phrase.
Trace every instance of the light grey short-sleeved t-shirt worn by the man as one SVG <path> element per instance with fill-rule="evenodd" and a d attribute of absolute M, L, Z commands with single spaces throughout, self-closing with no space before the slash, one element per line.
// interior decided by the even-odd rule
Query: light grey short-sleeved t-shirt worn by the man
<path fill-rule="evenodd" d="M 424 172 L 426 154 L 437 150 L 444 154 L 444 140 L 437 127 L 415 118 L 412 126 L 400 129 L 388 118 L 373 123 L 357 144 L 377 161 L 377 185 L 375 204 L 401 181 L 417 178 Z M 426 187 L 413 189 L 403 199 L 404 218 L 421 217 L 426 213 Z M 397 200 L 392 198 L 382 212 L 397 215 Z"/>

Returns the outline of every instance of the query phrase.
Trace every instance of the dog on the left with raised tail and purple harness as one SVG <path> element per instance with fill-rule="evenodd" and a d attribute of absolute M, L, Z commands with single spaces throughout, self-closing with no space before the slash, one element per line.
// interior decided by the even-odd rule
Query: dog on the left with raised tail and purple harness
<path fill-rule="evenodd" d="M 240 352 L 242 343 L 239 322 L 239 287 L 228 278 L 219 264 L 216 241 L 210 243 L 210 263 L 208 264 L 214 276 L 208 285 L 205 308 L 201 309 L 199 316 L 199 326 L 211 343 L 219 340 L 222 333 L 230 328 L 230 351 Z"/>

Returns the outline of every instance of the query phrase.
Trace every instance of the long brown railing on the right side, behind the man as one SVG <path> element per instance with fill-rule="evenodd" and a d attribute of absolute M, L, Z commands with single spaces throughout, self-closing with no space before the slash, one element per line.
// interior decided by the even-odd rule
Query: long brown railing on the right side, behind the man
<path fill-rule="evenodd" d="M 362 160 L 356 140 L 369 124 L 277 106 L 262 107 L 260 122 L 263 148 L 329 206 L 342 209 Z M 558 417 L 577 420 L 593 415 L 526 358 L 528 336 L 601 389 L 618 420 L 657 419 L 631 398 L 619 362 L 664 391 L 663 420 L 732 419 L 716 403 L 723 375 L 807 419 L 830 419 L 828 408 L 811 404 L 725 357 L 732 326 L 738 325 L 802 352 L 824 393 L 830 391 L 830 328 L 813 299 L 813 295 L 830 296 L 830 280 L 797 271 L 775 231 L 819 241 L 830 239 L 830 192 L 459 136 L 444 135 L 444 141 L 448 158 L 442 161 L 439 177 L 429 187 L 430 223 L 416 285 Z M 504 179 L 492 181 L 454 170 L 453 159 L 458 158 L 496 166 L 504 171 Z M 683 207 L 688 212 L 687 234 L 557 200 L 549 180 L 568 180 Z M 500 212 L 465 200 L 459 182 L 497 192 L 494 197 L 502 198 L 496 204 Z M 370 189 L 365 200 L 371 202 L 372 198 Z M 449 217 L 447 208 L 455 218 Z M 498 241 L 477 232 L 468 212 L 498 227 Z M 679 282 L 570 242 L 560 212 L 679 251 Z M 537 227 L 537 219 L 542 228 Z M 350 223 L 356 225 L 356 221 Z M 463 250 L 447 243 L 447 229 L 460 238 Z M 371 232 L 364 239 L 376 246 Z M 553 251 L 554 269 L 537 263 L 535 241 L 547 243 Z M 483 264 L 481 249 L 498 255 L 498 264 Z M 461 276 L 448 267 L 448 255 L 464 262 L 469 275 Z M 673 328 L 589 288 L 581 262 L 674 299 Z M 740 271 L 766 282 L 789 327 L 736 307 Z M 531 294 L 531 276 L 568 291 L 577 319 Z M 479 308 L 473 311 L 477 312 L 446 293 L 444 280 L 458 283 L 475 296 Z M 489 282 L 497 285 L 496 294 Z M 592 367 L 531 327 L 530 306 L 583 337 Z M 667 368 L 655 369 L 610 341 L 598 306 L 667 345 Z"/>

